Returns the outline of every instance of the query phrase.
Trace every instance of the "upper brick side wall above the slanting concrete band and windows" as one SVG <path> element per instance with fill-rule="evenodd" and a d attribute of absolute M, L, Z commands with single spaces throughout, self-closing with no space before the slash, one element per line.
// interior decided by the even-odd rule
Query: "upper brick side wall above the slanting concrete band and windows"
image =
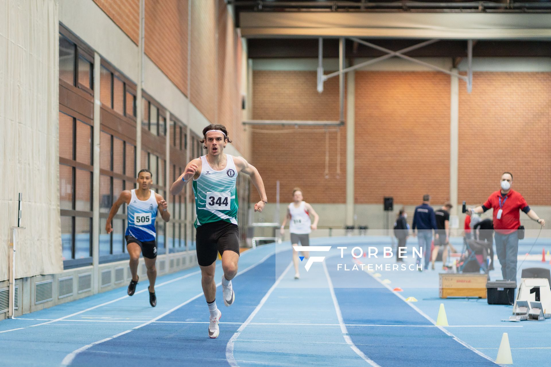
<path fill-rule="evenodd" d="M 188 1 L 192 1 L 190 61 Z M 138 43 L 138 0 L 94 2 Z M 145 0 L 144 32 L 145 54 L 186 96 L 190 62 L 191 102 L 210 122 L 225 124 L 235 147 L 245 152 L 247 143 L 241 125 L 239 92 L 241 41 L 224 0 Z"/>

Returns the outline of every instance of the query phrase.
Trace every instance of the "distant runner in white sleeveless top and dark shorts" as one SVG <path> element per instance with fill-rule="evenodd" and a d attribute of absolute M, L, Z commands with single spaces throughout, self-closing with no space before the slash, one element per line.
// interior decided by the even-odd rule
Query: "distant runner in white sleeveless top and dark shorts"
<path fill-rule="evenodd" d="M 320 220 L 320 216 L 310 204 L 302 201 L 302 191 L 299 188 L 293 190 L 293 202 L 287 207 L 287 215 L 283 220 L 281 226 L 281 234 L 285 233 L 285 224 L 289 219 L 289 232 L 291 234 L 291 245 L 309 246 L 310 238 L 309 234 L 312 230 L 317 229 L 317 222 Z M 314 216 L 314 223 L 310 219 L 310 214 Z M 306 259 L 309 258 L 308 251 L 302 251 L 302 255 Z M 299 254 L 298 251 L 293 251 L 293 263 L 295 265 L 295 279 L 300 277 L 299 273 Z"/>

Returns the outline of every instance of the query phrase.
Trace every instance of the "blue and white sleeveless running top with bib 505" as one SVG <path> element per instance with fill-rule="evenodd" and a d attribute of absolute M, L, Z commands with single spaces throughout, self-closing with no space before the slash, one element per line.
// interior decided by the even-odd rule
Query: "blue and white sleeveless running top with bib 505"
<path fill-rule="evenodd" d="M 128 226 L 125 235 L 140 241 L 153 241 L 156 237 L 155 218 L 157 217 L 157 200 L 155 191 L 149 190 L 150 195 L 147 200 L 139 200 L 136 196 L 136 190 L 132 189 L 132 197 L 128 204 Z"/>

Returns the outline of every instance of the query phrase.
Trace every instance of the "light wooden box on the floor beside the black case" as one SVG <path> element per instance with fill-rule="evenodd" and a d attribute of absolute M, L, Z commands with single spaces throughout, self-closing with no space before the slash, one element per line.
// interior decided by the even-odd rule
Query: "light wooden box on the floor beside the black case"
<path fill-rule="evenodd" d="M 478 297 L 486 298 L 486 274 L 440 273 L 440 298 Z"/>

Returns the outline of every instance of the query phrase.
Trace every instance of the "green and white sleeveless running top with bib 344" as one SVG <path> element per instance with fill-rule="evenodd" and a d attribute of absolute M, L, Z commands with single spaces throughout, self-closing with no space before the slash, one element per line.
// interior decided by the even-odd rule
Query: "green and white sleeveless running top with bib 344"
<path fill-rule="evenodd" d="M 197 220 L 195 228 L 201 224 L 226 221 L 237 224 L 237 169 L 234 157 L 226 154 L 226 168 L 215 171 L 201 157 L 201 174 L 193 179 L 193 195 Z"/>

